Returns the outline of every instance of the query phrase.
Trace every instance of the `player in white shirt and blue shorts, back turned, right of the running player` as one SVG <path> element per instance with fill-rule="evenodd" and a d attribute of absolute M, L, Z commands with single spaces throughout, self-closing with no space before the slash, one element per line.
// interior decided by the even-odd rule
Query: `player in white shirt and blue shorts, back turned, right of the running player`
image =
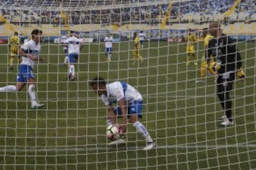
<path fill-rule="evenodd" d="M 82 41 L 77 38 L 74 32 L 70 31 L 70 38 L 65 40 L 63 43 L 68 44 L 68 57 L 69 57 L 69 67 L 68 67 L 68 79 L 70 81 L 75 80 L 75 65 L 74 63 L 78 61 L 80 50 L 82 49 Z"/>

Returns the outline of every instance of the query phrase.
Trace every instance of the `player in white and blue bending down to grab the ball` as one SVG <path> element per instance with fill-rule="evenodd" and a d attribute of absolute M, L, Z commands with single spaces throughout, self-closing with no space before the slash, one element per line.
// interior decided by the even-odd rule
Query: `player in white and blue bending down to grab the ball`
<path fill-rule="evenodd" d="M 127 129 L 127 118 L 132 123 L 133 127 L 137 129 L 146 140 L 147 145 L 144 150 L 149 150 L 155 147 L 155 142 L 149 135 L 145 126 L 139 122 L 142 118 L 143 98 L 139 91 L 134 89 L 127 83 L 122 81 L 114 81 L 106 84 L 105 80 L 101 77 L 95 77 L 90 81 L 91 88 L 98 96 L 102 98 L 102 102 L 107 106 L 107 125 L 116 123 L 116 118 L 121 117 L 122 133 L 118 140 L 110 142 L 109 145 L 120 145 L 126 142 L 124 133 Z M 113 103 L 117 103 L 114 108 Z"/>

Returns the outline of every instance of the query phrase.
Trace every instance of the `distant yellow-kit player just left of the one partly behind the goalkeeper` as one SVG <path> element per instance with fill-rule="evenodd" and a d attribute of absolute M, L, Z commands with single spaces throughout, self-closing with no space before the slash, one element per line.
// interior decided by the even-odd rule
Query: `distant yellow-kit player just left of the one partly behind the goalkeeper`
<path fill-rule="evenodd" d="M 185 38 L 186 41 L 186 52 L 188 54 L 187 63 L 190 63 L 190 57 L 192 55 L 194 64 L 196 65 L 196 55 L 195 55 L 195 42 L 196 42 L 196 36 L 192 33 L 191 29 L 188 29 L 188 35 Z"/>

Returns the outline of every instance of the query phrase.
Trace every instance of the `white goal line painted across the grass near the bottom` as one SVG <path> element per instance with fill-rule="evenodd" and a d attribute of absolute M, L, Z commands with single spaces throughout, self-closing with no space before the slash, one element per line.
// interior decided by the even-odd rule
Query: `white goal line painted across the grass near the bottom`
<path fill-rule="evenodd" d="M 255 149 L 256 144 L 252 145 L 167 145 L 156 146 L 155 149 L 220 149 L 220 148 L 251 148 Z M 0 152 L 87 152 L 87 151 L 114 151 L 114 150 L 142 150 L 143 147 L 6 147 Z"/>

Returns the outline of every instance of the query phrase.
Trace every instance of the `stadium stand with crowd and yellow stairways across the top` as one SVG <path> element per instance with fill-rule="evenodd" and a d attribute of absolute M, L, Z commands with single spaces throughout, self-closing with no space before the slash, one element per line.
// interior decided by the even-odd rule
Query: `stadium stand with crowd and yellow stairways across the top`
<path fill-rule="evenodd" d="M 256 5 L 254 0 L 193 0 L 171 4 L 166 1 L 129 1 L 129 0 L 62 0 L 62 1 L 31 1 L 4 0 L 1 1 L 0 23 L 10 23 L 12 29 L 22 28 L 23 33 L 31 28 L 48 28 L 44 33 L 60 33 L 63 27 L 86 25 L 85 30 L 99 28 L 124 30 L 154 28 L 161 22 L 166 22 L 167 28 L 203 27 L 208 21 L 225 23 L 252 23 L 250 26 L 230 25 L 230 28 L 250 30 L 255 28 Z M 139 7 L 132 4 L 140 4 Z M 122 4 L 119 6 L 118 4 Z M 126 5 L 127 4 L 127 5 Z M 27 10 L 18 6 L 27 6 Z M 42 10 L 48 6 L 48 10 Z M 102 8 L 83 8 L 81 6 L 102 6 Z M 110 9 L 111 6 L 111 9 Z M 72 8 L 71 8 L 72 7 Z M 79 7 L 79 8 L 78 8 Z M 104 7 L 104 8 L 103 8 Z M 230 11 L 234 8 L 233 11 Z M 57 9 L 57 10 L 56 10 Z M 72 9 L 72 10 L 71 10 Z M 169 11 L 170 10 L 170 11 Z M 230 14 L 227 15 L 227 11 Z M 169 14 L 170 12 L 170 14 Z M 168 13 L 168 17 L 166 17 Z M 183 26 L 181 26 L 181 23 Z M 227 24 L 228 25 L 228 24 Z M 238 26 L 237 26 L 238 25 Z M 6 27 L 8 28 L 8 27 Z M 50 29 L 49 29 L 50 28 Z M 255 29 L 254 29 L 255 30 Z M 12 32 L 12 31 L 11 31 Z M 28 31 L 29 32 L 29 31 Z M 255 31 L 250 30 L 250 33 Z M 247 33 L 247 32 L 246 32 Z M 3 34 L 9 34 L 4 30 Z"/>

